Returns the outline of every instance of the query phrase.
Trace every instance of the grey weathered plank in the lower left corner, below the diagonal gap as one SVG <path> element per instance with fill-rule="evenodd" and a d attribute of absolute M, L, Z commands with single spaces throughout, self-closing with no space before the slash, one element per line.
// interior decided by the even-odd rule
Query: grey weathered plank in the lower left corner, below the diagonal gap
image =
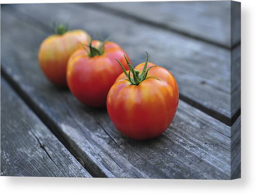
<path fill-rule="evenodd" d="M 1 76 L 1 176 L 91 177 Z"/>

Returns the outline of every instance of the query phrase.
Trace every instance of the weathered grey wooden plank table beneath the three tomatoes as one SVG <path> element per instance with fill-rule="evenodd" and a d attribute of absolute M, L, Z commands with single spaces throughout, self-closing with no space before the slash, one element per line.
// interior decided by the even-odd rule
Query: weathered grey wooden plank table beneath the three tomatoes
<path fill-rule="evenodd" d="M 240 177 L 240 3 L 1 5 L 1 176 Z M 51 84 L 37 53 L 53 21 L 169 69 L 179 108 L 158 138 L 123 136 L 105 109 Z M 237 22 L 238 21 L 238 22 Z M 230 29 L 233 33 L 230 35 Z"/>

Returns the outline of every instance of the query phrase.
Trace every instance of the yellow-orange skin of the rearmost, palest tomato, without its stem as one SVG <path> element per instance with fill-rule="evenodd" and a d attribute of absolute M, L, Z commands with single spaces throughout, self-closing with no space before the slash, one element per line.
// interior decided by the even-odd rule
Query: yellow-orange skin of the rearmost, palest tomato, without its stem
<path fill-rule="evenodd" d="M 57 86 L 67 86 L 66 71 L 70 55 L 91 39 L 83 30 L 71 30 L 63 35 L 50 35 L 40 45 L 38 61 L 45 76 Z"/>

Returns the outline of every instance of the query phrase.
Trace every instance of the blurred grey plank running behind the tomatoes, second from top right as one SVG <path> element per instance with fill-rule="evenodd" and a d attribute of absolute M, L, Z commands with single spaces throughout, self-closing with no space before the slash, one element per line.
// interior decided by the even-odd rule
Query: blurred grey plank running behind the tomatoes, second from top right
<path fill-rule="evenodd" d="M 170 31 L 153 29 L 142 23 L 137 24 L 127 18 L 105 13 L 104 10 L 94 10 L 90 3 L 85 5 L 17 5 L 15 13 L 20 14 L 18 17 L 21 20 L 33 23 L 47 34 L 50 33 L 49 25 L 53 18 L 57 21 L 76 18 L 70 23 L 71 28 L 83 28 L 90 34 L 98 32 L 105 38 L 111 36 L 113 41 L 127 51 L 134 65 L 145 61 L 144 51 L 148 51 L 149 61 L 166 67 L 175 76 L 180 99 L 225 124 L 232 124 L 230 50 Z M 237 111 L 234 110 L 234 113 Z"/>

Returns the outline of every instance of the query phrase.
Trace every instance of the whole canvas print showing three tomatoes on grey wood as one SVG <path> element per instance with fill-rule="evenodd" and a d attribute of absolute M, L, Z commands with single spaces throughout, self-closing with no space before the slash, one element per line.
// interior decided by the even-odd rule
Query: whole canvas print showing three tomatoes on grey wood
<path fill-rule="evenodd" d="M 1 5 L 1 176 L 241 177 L 241 3 Z"/>

